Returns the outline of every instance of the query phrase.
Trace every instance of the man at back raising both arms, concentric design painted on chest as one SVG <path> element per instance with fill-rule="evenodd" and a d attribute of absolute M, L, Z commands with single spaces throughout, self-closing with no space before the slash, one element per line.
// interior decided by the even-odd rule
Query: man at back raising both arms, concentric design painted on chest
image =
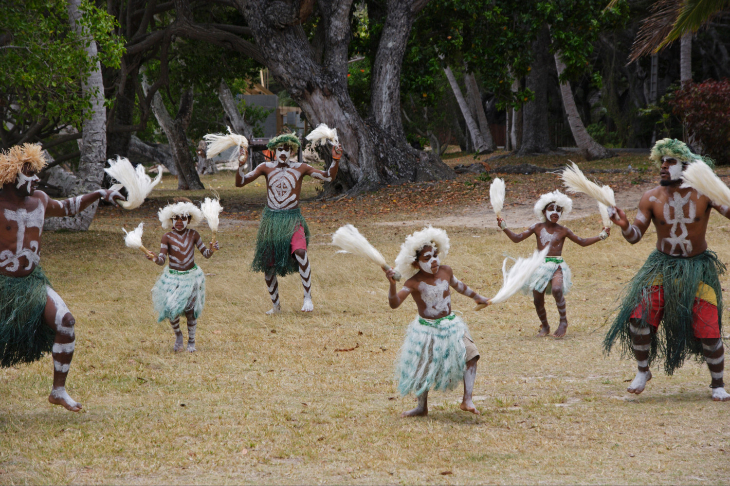
<path fill-rule="evenodd" d="M 274 151 L 274 160 L 258 165 L 253 171 L 244 173 L 247 157 L 239 157 L 239 171 L 236 186 L 243 187 L 258 179 L 266 178 L 266 208 L 261 215 L 256 236 L 256 249 L 251 269 L 263 272 L 266 288 L 272 299 L 272 309 L 267 314 L 281 312 L 279 283 L 277 275 L 283 277 L 299 271 L 304 287 L 303 312 L 314 310 L 312 303 L 312 273 L 307 257 L 310 230 L 299 210 L 299 194 L 304 176 L 331 182 L 337 176 L 342 146 L 332 146 L 332 165 L 327 171 L 320 171 L 304 162 L 293 162 L 292 154 L 299 148 L 299 138 L 293 133 L 284 133 L 269 141 L 266 146 Z M 245 151 L 247 149 L 240 149 Z"/>

